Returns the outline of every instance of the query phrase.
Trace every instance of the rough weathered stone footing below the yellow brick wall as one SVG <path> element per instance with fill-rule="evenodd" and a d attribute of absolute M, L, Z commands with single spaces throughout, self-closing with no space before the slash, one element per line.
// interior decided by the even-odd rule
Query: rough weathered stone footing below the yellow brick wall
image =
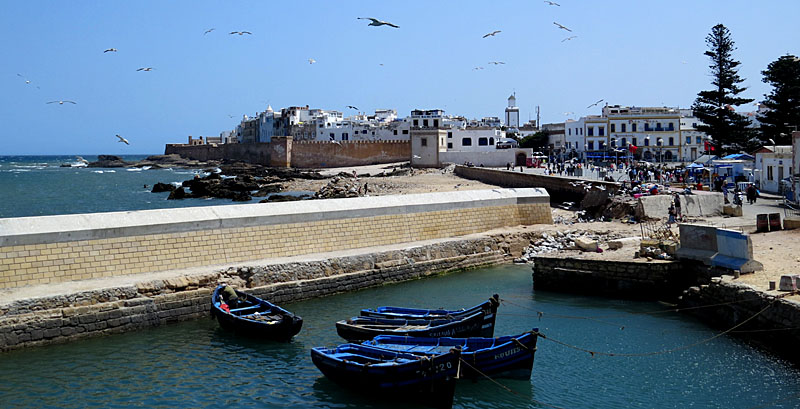
<path fill-rule="evenodd" d="M 509 262 L 529 238 L 505 235 L 399 250 L 227 269 L 0 305 L 0 350 L 67 342 L 207 317 L 221 281 L 279 304 Z M 342 318 L 347 318 L 343 316 Z"/>

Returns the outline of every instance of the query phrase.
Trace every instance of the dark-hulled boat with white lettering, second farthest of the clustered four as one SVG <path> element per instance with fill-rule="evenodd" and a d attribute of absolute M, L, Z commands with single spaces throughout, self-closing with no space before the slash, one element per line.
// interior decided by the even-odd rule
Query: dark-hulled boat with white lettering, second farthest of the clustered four
<path fill-rule="evenodd" d="M 339 336 L 350 341 L 360 342 L 375 338 L 378 335 L 406 335 L 411 337 L 477 337 L 491 331 L 494 334 L 494 323 L 484 328 L 484 316 L 476 312 L 462 318 L 439 320 L 405 320 L 376 317 L 353 317 L 336 323 Z"/>

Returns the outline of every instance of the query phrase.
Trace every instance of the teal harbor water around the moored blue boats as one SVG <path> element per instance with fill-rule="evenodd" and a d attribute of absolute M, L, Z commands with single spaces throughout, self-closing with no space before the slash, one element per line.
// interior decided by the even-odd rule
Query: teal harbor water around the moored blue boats
<path fill-rule="evenodd" d="M 462 380 L 456 408 L 800 405 L 800 372 L 785 361 L 733 337 L 709 340 L 716 330 L 658 303 L 533 291 L 525 265 L 288 304 L 304 318 L 290 343 L 240 338 L 208 318 L 3 353 L 0 402 L 4 408 L 416 407 L 341 390 L 314 367 L 310 349 L 343 343 L 334 323 L 361 308 L 460 308 L 493 293 L 503 300 L 495 335 L 538 327 L 547 339 L 539 340 L 530 380 Z"/>

